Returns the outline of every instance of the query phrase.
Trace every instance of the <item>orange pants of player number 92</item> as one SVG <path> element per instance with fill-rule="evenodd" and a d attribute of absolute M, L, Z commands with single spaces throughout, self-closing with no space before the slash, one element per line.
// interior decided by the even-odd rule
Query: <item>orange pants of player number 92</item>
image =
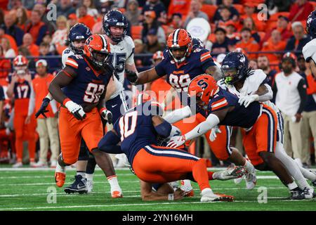
<path fill-rule="evenodd" d="M 103 127 L 98 109 L 86 113 L 84 120 L 77 120 L 67 108 L 60 107 L 59 135 L 62 160 L 69 165 L 78 160 L 81 137 L 91 151 L 98 148 L 103 137 Z"/>

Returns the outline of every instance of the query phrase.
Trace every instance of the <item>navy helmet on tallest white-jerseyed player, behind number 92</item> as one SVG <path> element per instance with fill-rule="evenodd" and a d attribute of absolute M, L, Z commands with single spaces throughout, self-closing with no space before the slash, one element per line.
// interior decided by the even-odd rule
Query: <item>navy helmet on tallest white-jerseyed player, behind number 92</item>
<path fill-rule="evenodd" d="M 123 13 L 118 10 L 112 10 L 104 15 L 103 30 L 105 34 L 107 34 L 107 37 L 112 39 L 112 41 L 114 42 L 119 43 L 124 38 L 128 25 L 129 24 L 125 15 L 123 15 Z M 110 27 L 123 27 L 123 34 L 114 37 L 114 35 L 110 31 Z"/>

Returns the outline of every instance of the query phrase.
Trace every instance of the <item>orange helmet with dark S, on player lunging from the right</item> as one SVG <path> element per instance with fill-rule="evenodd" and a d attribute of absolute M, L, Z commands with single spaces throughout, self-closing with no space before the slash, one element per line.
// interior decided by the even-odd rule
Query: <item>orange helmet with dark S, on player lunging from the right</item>
<path fill-rule="evenodd" d="M 196 96 L 197 104 L 206 109 L 209 104 L 209 98 L 213 97 L 219 91 L 216 80 L 211 75 L 199 75 L 192 79 L 187 89 L 189 95 Z"/>

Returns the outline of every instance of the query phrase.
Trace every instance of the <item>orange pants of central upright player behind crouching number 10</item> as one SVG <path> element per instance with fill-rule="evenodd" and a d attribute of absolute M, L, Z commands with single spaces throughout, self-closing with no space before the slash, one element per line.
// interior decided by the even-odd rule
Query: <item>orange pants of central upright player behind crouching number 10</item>
<path fill-rule="evenodd" d="M 192 117 L 196 117 L 194 122 L 187 123 L 185 120 L 180 120 L 173 125 L 178 127 L 182 134 L 186 134 L 188 131 L 194 129 L 199 123 L 206 120 L 206 118 L 201 113 L 192 115 Z M 215 141 L 211 141 L 209 139 L 211 131 L 207 131 L 204 135 L 206 137 L 207 143 L 209 143 L 209 147 L 213 151 L 214 155 L 216 155 L 216 158 L 218 158 L 218 160 L 227 160 L 232 154 L 232 149 L 230 148 L 230 127 L 219 126 L 219 129 L 221 133 L 216 134 L 217 137 Z"/>

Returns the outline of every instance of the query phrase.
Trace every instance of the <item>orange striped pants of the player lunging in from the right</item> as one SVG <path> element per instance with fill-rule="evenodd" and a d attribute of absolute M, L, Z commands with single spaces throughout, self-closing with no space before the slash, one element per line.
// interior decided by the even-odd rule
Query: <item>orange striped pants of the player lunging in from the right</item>
<path fill-rule="evenodd" d="M 251 164 L 263 163 L 260 152 L 274 153 L 277 144 L 277 114 L 268 105 L 263 105 L 261 116 L 250 131 L 242 129 L 242 143 Z"/>

